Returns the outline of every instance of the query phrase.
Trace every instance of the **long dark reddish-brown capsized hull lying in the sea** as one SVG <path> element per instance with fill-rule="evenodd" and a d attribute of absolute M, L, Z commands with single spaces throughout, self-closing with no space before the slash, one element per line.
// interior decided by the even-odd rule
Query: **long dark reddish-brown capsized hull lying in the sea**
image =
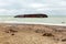
<path fill-rule="evenodd" d="M 19 14 L 14 18 L 47 18 L 46 14 Z"/>

